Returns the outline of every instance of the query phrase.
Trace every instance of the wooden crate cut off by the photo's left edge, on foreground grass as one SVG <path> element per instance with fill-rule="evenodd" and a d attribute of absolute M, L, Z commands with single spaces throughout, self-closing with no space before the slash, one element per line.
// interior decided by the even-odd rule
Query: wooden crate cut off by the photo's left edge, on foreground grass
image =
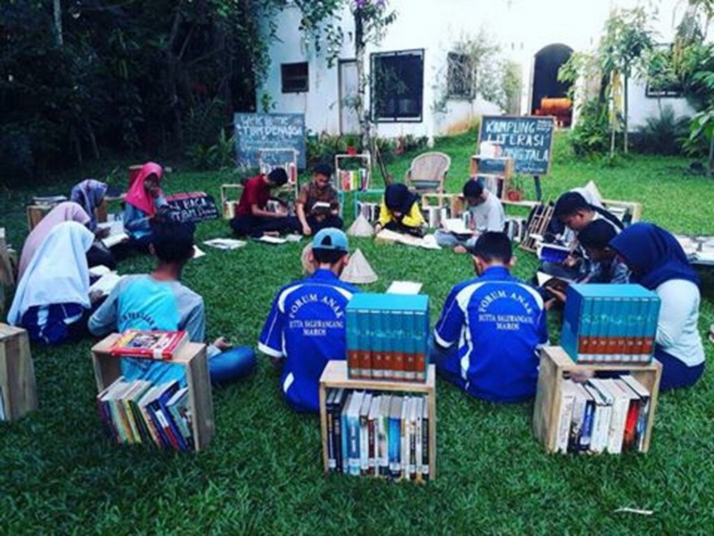
<path fill-rule="evenodd" d="M 35 369 L 27 332 L 0 323 L 0 391 L 7 421 L 37 409 Z M 2 419 L 0 419 L 2 420 Z"/>

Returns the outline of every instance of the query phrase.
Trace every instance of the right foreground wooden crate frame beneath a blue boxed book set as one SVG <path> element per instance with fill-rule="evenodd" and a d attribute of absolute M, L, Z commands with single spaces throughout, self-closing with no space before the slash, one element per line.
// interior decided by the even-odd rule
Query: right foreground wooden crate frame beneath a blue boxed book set
<path fill-rule="evenodd" d="M 650 392 L 650 413 L 643 442 L 643 452 L 647 452 L 652 440 L 652 429 L 660 390 L 660 377 L 662 376 L 660 362 L 653 359 L 648 364 L 578 364 L 573 362 L 573 359 L 570 359 L 565 350 L 559 346 L 544 347 L 540 351 L 538 391 L 535 394 L 535 406 L 533 408 L 533 434 L 536 439 L 545 447 L 548 453 L 555 452 L 563 379 L 570 377 L 573 373 L 583 374 L 583 372 L 632 374 Z"/>

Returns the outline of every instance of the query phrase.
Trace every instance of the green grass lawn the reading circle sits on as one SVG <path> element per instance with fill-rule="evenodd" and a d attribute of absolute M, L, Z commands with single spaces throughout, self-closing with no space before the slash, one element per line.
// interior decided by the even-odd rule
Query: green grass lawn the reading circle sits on
<path fill-rule="evenodd" d="M 448 189 L 467 177 L 473 135 L 444 139 L 452 157 Z M 389 164 L 401 177 L 409 158 Z M 126 163 L 124 163 L 126 164 Z M 122 165 L 124 165 L 122 164 Z M 675 232 L 714 234 L 714 183 L 683 173 L 688 162 L 632 157 L 618 167 L 570 157 L 564 139 L 543 178 L 546 198 L 594 179 L 610 199 L 640 201 L 644 219 Z M 97 167 L 104 177 L 116 164 Z M 121 168 L 125 169 L 124 167 Z M 167 192 L 204 189 L 216 196 L 230 173 L 166 175 Z M 124 185 L 125 175 L 111 179 Z M 80 177 L 44 188 L 14 189 L 0 199 L 0 227 L 19 246 L 24 204 L 33 193 L 69 191 Z M 528 185 L 531 186 L 530 184 Z M 351 207 L 351 204 L 348 205 Z M 351 210 L 348 209 L 348 210 Z M 197 239 L 228 236 L 224 221 L 198 227 Z M 303 241 L 304 244 L 304 241 Z M 183 281 L 203 295 L 208 335 L 255 345 L 273 295 L 301 277 L 303 244 L 249 243 L 233 252 L 205 247 Z M 380 280 L 424 283 L 433 321 L 453 284 L 471 277 L 466 256 L 354 239 Z M 516 274 L 530 277 L 535 259 L 518 252 Z M 144 272 L 134 257 L 122 273 Z M 700 327 L 714 322 L 703 301 Z M 557 341 L 555 322 L 551 340 Z M 0 425 L 0 533 L 112 532 L 356 532 L 356 533 L 707 533 L 714 526 L 714 377 L 660 397 L 648 455 L 548 456 L 531 434 L 532 404 L 498 406 L 438 381 L 438 480 L 426 486 L 368 478 L 325 477 L 318 419 L 283 403 L 278 372 L 267 359 L 248 379 L 215 389 L 216 436 L 196 455 L 119 447 L 104 437 L 96 415 L 89 357 L 93 341 L 54 349 L 33 347 L 39 411 Z M 709 360 L 712 344 L 705 342 Z M 613 513 L 653 510 L 650 517 Z M 709 528 L 707 528 L 709 527 Z"/>

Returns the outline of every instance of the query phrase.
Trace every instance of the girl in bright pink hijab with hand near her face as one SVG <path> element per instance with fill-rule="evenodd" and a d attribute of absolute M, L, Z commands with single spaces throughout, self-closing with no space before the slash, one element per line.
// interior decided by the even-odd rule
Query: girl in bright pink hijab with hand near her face
<path fill-rule="evenodd" d="M 151 243 L 151 221 L 161 207 L 166 206 L 161 192 L 161 176 L 164 169 L 154 162 L 146 162 L 126 194 L 124 229 L 132 245 L 147 251 Z"/>

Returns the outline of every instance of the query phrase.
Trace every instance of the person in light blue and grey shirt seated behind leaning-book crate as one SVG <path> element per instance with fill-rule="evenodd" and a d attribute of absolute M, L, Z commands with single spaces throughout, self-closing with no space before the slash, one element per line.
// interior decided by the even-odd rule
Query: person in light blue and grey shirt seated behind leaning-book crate
<path fill-rule="evenodd" d="M 203 298 L 181 284 L 183 266 L 193 257 L 193 229 L 176 222 L 156 222 L 149 251 L 156 257 L 154 271 L 122 278 L 91 315 L 89 331 L 102 336 L 126 329 L 181 329 L 188 332 L 191 341 L 203 342 L 206 333 Z M 251 348 L 231 348 L 220 337 L 208 346 L 211 382 L 223 384 L 243 377 L 251 372 L 255 360 Z M 164 365 L 151 359 L 122 359 L 122 373 L 127 377 L 158 375 Z"/>

